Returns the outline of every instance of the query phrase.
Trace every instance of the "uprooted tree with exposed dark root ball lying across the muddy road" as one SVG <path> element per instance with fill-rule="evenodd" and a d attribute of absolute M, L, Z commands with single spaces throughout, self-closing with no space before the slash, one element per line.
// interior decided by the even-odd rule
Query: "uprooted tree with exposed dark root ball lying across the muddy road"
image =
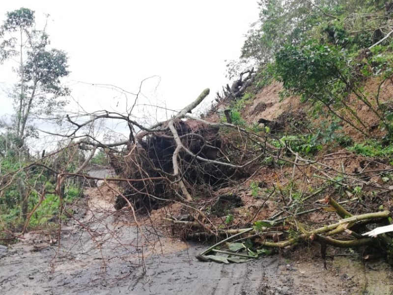
<path fill-rule="evenodd" d="M 251 175 L 257 160 L 263 159 L 266 146 L 266 138 L 246 129 L 190 115 L 208 94 L 209 89 L 205 89 L 172 118 L 149 127 L 130 119 L 130 114 L 106 111 L 84 123 L 67 117 L 76 127 L 64 136 L 72 137 L 98 119 L 126 121 L 130 127 L 126 141 L 112 144 L 103 144 L 95 138 L 78 141 L 84 147 L 104 148 L 116 174 L 124 179 L 121 181 L 124 194 L 118 196 L 116 209 L 128 206 L 129 202 L 137 209 L 147 210 L 168 200 L 193 202 L 195 198 L 210 195 L 211 187 Z M 233 142 L 228 133 L 244 137 L 243 144 Z M 260 146 L 260 154 L 255 154 L 249 146 Z"/>

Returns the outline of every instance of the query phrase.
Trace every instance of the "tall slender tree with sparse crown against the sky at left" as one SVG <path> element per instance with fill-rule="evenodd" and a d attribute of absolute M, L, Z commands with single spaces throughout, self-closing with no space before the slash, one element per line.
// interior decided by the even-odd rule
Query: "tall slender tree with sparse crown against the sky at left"
<path fill-rule="evenodd" d="M 12 58 L 18 63 L 15 71 L 19 81 L 12 98 L 19 146 L 23 146 L 29 136 L 30 119 L 62 109 L 66 104 L 64 97 L 69 94 L 69 89 L 60 81 L 69 74 L 67 55 L 61 50 L 49 49 L 46 26 L 42 30 L 35 26 L 34 11 L 20 8 L 8 12 L 0 27 L 0 61 Z"/>

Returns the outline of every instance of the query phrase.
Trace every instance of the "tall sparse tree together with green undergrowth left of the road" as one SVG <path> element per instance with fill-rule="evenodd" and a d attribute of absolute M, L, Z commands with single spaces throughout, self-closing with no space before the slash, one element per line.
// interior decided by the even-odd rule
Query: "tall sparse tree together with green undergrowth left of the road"
<path fill-rule="evenodd" d="M 0 27 L 0 61 L 14 62 L 18 79 L 7 93 L 15 113 L 11 120 L 0 120 L 0 228 L 25 232 L 28 225 L 46 224 L 59 212 L 53 169 L 71 171 L 84 155 L 64 150 L 48 158 L 45 151 L 30 152 L 29 139 L 38 135 L 34 119 L 56 117 L 70 93 L 61 83 L 69 74 L 67 55 L 51 48 L 46 27 L 36 29 L 34 11 L 20 8 L 7 13 Z M 30 166 L 39 158 L 43 166 Z M 65 201 L 81 194 L 79 186 L 69 184 L 64 187 Z"/>

